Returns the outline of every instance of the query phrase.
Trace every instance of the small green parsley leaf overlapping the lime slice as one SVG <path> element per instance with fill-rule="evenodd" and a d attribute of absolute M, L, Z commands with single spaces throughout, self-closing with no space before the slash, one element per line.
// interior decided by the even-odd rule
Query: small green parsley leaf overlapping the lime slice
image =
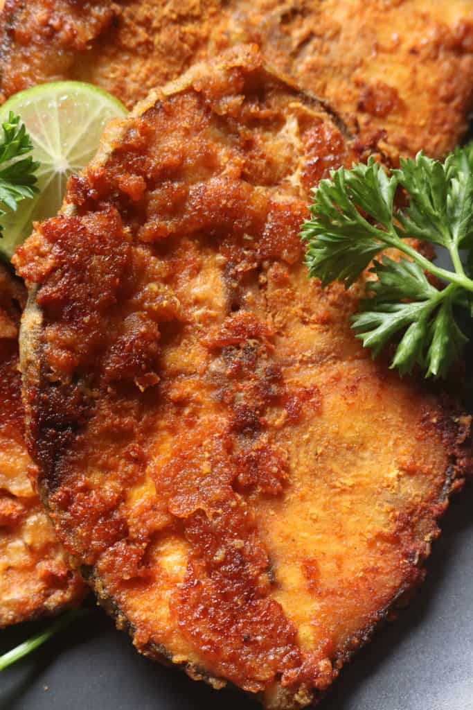
<path fill-rule="evenodd" d="M 10 111 L 8 121 L 1 124 L 3 136 L 0 138 L 0 217 L 8 212 L 16 212 L 18 202 L 33 197 L 38 192 L 35 170 L 39 163 L 22 155 L 33 150 L 30 136 L 21 122 L 20 116 Z M 0 225 L 1 234 L 1 225 Z"/>

